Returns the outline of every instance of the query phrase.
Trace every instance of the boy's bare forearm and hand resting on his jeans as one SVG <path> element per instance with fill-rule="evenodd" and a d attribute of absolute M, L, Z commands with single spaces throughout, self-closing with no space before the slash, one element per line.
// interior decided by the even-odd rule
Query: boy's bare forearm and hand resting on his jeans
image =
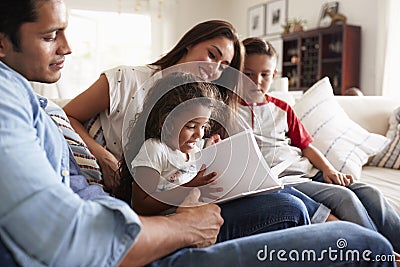
<path fill-rule="evenodd" d="M 353 183 L 353 177 L 350 174 L 337 171 L 328 159 L 313 145 L 308 145 L 302 150 L 302 153 L 315 168 L 322 171 L 326 183 L 343 186 L 348 186 Z"/>

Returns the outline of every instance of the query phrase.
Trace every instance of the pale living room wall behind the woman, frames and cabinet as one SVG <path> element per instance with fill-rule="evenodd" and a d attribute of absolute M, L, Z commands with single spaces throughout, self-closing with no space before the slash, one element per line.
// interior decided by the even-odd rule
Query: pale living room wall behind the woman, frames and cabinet
<path fill-rule="evenodd" d="M 268 1 L 260 0 L 178 0 L 176 18 L 176 40 L 197 22 L 221 18 L 230 21 L 237 28 L 240 37 L 247 37 L 247 10 L 249 7 Z M 215 2 L 218 2 L 216 5 Z M 307 28 L 316 28 L 321 6 L 329 1 L 287 0 L 288 17 L 304 18 Z M 362 29 L 360 87 L 366 95 L 380 95 L 385 55 L 385 8 L 386 1 L 338 0 L 339 12 L 347 16 L 349 24 Z M 193 12 L 196 10 L 196 12 Z"/>

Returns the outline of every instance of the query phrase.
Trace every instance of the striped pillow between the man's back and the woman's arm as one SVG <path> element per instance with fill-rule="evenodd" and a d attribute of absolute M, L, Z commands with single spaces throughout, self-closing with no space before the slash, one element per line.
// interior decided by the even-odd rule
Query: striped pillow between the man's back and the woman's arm
<path fill-rule="evenodd" d="M 82 138 L 72 128 L 64 110 L 54 102 L 49 101 L 49 104 L 46 107 L 46 112 L 57 124 L 58 128 L 61 129 L 82 174 L 89 182 L 101 183 L 102 176 L 96 158 L 89 151 L 89 148 L 83 142 Z"/>

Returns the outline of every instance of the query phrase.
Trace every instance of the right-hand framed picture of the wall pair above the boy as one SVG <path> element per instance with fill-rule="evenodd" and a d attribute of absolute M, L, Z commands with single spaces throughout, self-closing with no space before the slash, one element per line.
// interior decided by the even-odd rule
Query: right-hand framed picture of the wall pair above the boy
<path fill-rule="evenodd" d="M 287 0 L 267 2 L 266 34 L 280 34 L 287 19 Z"/>

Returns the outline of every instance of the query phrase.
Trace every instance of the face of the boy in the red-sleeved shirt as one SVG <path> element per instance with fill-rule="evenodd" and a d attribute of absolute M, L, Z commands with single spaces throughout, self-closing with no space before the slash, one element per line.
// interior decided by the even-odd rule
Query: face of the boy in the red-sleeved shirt
<path fill-rule="evenodd" d="M 256 87 L 244 89 L 244 98 L 247 102 L 265 102 L 265 94 L 277 73 L 276 64 L 276 57 L 261 54 L 246 56 L 243 72 L 256 85 Z"/>

